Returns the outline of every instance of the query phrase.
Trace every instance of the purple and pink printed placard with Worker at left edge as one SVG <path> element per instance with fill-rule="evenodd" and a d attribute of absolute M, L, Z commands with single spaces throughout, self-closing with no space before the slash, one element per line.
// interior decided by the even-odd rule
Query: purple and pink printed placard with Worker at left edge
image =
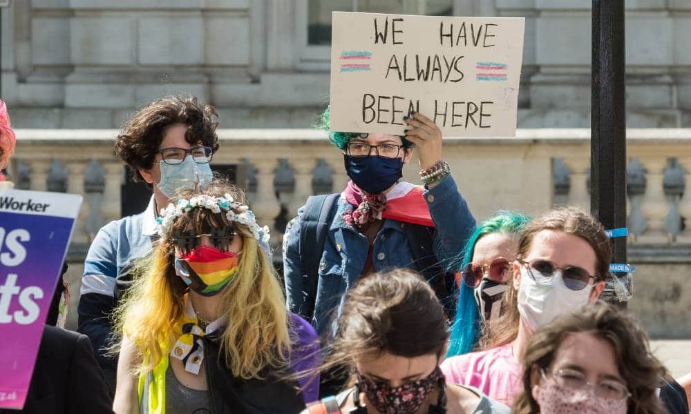
<path fill-rule="evenodd" d="M 0 190 L 0 408 L 21 409 L 81 195 Z"/>

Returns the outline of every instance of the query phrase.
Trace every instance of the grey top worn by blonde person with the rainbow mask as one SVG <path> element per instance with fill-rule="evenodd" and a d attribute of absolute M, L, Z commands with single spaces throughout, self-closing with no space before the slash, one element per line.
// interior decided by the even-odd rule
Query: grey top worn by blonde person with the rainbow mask
<path fill-rule="evenodd" d="M 149 387 L 144 386 L 140 413 L 149 414 Z M 180 384 L 173 368 L 166 370 L 166 412 L 180 414 L 210 414 L 211 401 L 208 391 L 193 390 Z"/>

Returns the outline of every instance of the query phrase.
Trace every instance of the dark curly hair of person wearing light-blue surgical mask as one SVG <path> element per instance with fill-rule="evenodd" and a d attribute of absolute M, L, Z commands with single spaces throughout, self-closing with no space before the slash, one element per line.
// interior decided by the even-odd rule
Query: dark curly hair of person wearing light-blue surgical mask
<path fill-rule="evenodd" d="M 139 170 L 153 166 L 153 159 L 169 126 L 187 125 L 185 141 L 190 145 L 201 143 L 216 152 L 217 118 L 214 107 L 202 105 L 196 97 L 157 99 L 126 122 L 115 139 L 115 154 L 129 167 L 134 181 L 144 181 Z"/>

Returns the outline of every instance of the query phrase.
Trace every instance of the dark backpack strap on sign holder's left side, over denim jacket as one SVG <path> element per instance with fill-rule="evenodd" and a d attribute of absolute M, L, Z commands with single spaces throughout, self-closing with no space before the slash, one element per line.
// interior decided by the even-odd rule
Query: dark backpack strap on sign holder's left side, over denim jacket
<path fill-rule="evenodd" d="M 302 271 L 303 303 L 298 314 L 306 321 L 312 320 L 316 288 L 319 283 L 319 261 L 324 242 L 340 193 L 313 195 L 307 199 L 300 218 L 300 268 Z"/>

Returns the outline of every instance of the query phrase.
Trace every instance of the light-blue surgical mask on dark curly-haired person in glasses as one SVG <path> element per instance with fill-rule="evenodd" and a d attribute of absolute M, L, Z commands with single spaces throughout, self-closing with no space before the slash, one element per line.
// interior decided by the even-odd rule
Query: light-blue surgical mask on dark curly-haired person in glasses
<path fill-rule="evenodd" d="M 198 164 L 191 155 L 180 164 L 171 165 L 161 161 L 159 165 L 161 181 L 156 186 L 168 198 L 175 197 L 180 190 L 192 190 L 197 185 L 206 188 L 214 178 L 209 163 Z"/>

